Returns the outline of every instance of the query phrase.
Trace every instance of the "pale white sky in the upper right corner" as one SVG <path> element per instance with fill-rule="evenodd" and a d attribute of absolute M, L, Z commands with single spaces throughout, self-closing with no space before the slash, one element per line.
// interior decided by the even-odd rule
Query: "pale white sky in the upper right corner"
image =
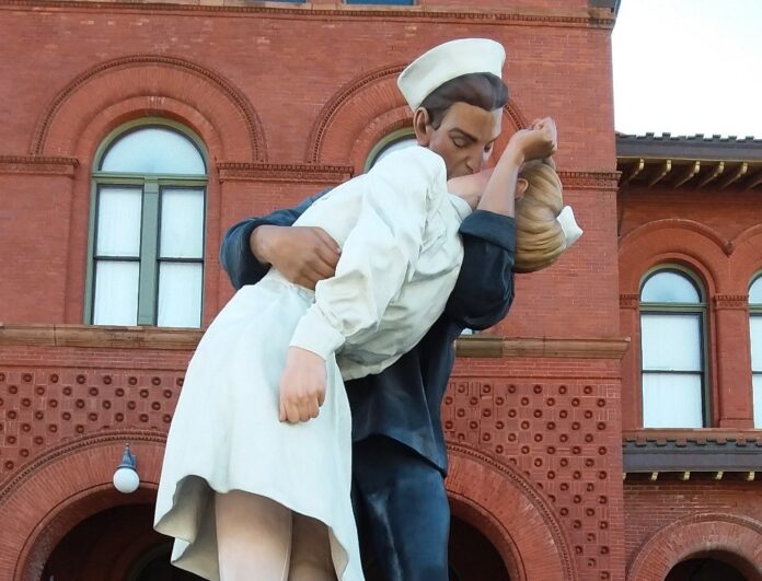
<path fill-rule="evenodd" d="M 762 0 L 621 0 L 614 127 L 762 138 Z"/>

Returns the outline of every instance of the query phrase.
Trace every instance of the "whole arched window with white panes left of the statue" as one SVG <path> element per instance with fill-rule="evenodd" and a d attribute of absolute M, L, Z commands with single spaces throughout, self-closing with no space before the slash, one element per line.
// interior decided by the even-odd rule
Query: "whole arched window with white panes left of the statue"
<path fill-rule="evenodd" d="M 196 136 L 164 120 L 122 127 L 101 146 L 85 322 L 200 326 L 205 158 Z"/>

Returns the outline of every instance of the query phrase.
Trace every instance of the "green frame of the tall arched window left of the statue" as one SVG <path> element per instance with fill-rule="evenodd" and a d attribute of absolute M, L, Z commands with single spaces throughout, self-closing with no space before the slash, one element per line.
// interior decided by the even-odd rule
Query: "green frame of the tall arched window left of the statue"
<path fill-rule="evenodd" d="M 128 173 L 102 171 L 102 164 L 112 148 L 122 139 L 136 133 L 142 129 L 158 128 L 170 131 L 187 140 L 204 163 L 204 175 L 200 174 L 177 174 L 177 173 Z M 200 299 L 198 305 L 198 317 L 193 324 L 184 324 L 184 327 L 200 327 L 203 321 L 204 304 L 204 248 L 206 243 L 206 194 L 208 185 L 209 155 L 201 139 L 187 127 L 164 118 L 146 118 L 122 125 L 112 131 L 99 147 L 92 172 L 90 221 L 88 235 L 88 267 L 85 281 L 84 300 L 84 323 L 85 324 L 115 324 L 108 322 L 94 321 L 96 302 L 96 270 L 99 264 L 103 263 L 138 263 L 138 290 L 137 290 L 137 313 L 135 324 L 137 325 L 159 325 L 159 294 L 160 294 L 160 270 L 162 265 L 200 265 Z M 102 193 L 109 189 L 129 191 L 135 189 L 140 191 L 140 233 L 139 253 L 135 255 L 113 255 L 101 256 L 96 254 L 99 245 L 99 206 Z M 161 249 L 161 219 L 162 200 L 170 193 L 200 193 L 203 201 L 201 223 L 200 223 L 200 255 L 193 257 L 166 257 L 162 256 Z M 169 206 L 168 206 L 169 208 Z M 169 325 L 161 325 L 169 326 Z"/>

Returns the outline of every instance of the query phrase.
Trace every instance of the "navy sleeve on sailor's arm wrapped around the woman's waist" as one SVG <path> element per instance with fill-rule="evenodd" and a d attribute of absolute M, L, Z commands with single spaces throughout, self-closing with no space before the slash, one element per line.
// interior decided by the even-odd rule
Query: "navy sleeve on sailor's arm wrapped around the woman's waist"
<path fill-rule="evenodd" d="M 220 265 L 228 272 L 230 282 L 235 290 L 244 284 L 258 282 L 269 270 L 269 265 L 259 263 L 249 245 L 254 229 L 261 225 L 290 226 L 304 213 L 304 210 L 326 191 L 328 190 L 324 189 L 320 194 L 302 200 L 293 208 L 275 210 L 262 218 L 241 220 L 226 232 L 220 246 Z"/>

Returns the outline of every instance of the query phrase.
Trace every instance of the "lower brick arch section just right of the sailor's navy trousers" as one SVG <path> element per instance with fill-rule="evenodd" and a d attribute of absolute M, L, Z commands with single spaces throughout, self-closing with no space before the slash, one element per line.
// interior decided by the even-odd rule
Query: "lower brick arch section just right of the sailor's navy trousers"
<path fill-rule="evenodd" d="M 553 508 L 527 478 L 472 448 L 448 443 L 448 451 L 452 512 L 493 544 L 511 581 L 578 579 Z"/>

